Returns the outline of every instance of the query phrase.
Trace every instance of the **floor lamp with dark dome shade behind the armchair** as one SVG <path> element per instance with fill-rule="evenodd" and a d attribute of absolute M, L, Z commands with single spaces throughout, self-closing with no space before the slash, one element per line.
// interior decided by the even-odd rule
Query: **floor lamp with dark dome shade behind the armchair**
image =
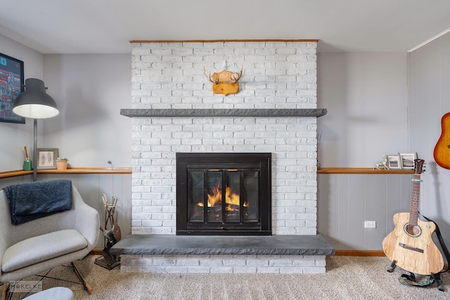
<path fill-rule="evenodd" d="M 46 94 L 42 80 L 28 78 L 25 80 L 25 92 L 20 93 L 14 101 L 13 113 L 34 119 L 33 146 L 33 181 L 37 180 L 37 119 L 53 118 L 58 115 L 55 100 Z"/>

